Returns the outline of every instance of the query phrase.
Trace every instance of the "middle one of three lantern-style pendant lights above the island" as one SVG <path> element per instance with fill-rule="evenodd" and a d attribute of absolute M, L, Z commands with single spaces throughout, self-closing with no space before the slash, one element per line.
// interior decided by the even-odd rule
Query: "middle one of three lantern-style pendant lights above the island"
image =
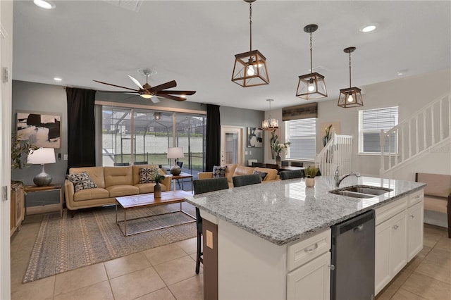
<path fill-rule="evenodd" d="M 311 33 L 318 29 L 318 25 L 310 24 L 304 27 L 304 32 L 310 34 L 310 74 L 299 76 L 296 96 L 302 99 L 319 99 L 327 97 L 326 82 L 324 76 L 313 72 L 311 63 Z"/>

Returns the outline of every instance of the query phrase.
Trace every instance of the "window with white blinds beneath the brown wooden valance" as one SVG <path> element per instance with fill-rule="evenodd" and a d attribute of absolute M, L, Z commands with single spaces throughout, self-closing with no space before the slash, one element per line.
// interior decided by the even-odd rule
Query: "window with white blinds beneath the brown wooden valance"
<path fill-rule="evenodd" d="M 285 140 L 291 142 L 287 158 L 313 161 L 316 156 L 316 118 L 285 121 Z"/>

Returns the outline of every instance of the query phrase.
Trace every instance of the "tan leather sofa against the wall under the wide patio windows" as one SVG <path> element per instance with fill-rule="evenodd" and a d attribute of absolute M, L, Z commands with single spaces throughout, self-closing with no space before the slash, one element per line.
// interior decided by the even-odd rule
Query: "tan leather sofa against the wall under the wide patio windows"
<path fill-rule="evenodd" d="M 80 174 L 86 171 L 97 187 L 75 192 L 73 182 L 66 179 L 64 182 L 64 192 L 68 210 L 73 215 L 73 211 L 80 208 L 116 204 L 116 197 L 119 196 L 154 192 L 154 182 L 140 183 L 140 168 L 158 168 L 158 165 L 70 168 L 69 174 Z M 161 174 L 165 173 L 161 169 L 159 171 Z M 170 176 L 165 177 L 161 181 L 161 190 L 171 190 Z"/>

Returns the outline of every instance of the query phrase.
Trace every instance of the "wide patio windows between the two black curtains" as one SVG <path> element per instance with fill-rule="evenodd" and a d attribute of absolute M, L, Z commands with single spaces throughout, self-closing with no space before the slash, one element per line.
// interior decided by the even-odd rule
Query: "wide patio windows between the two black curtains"
<path fill-rule="evenodd" d="M 168 168 L 168 147 L 183 147 L 183 172 L 204 169 L 206 115 L 102 106 L 101 165 L 155 164 Z M 174 126 L 175 125 L 175 126 Z"/>

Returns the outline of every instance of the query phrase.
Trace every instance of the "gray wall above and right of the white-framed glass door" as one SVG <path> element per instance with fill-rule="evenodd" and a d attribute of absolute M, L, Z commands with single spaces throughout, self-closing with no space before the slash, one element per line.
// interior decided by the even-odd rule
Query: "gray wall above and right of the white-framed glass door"
<path fill-rule="evenodd" d="M 251 109 L 242 109 L 242 108 L 234 108 L 228 106 L 221 106 L 219 108 L 219 112 L 221 113 L 221 125 L 229 125 L 229 126 L 240 126 L 244 127 L 244 137 L 243 145 L 245 146 L 245 165 L 247 165 L 247 160 L 249 159 L 257 159 L 259 162 L 264 162 L 264 149 L 265 146 L 261 148 L 248 148 L 247 147 L 247 127 L 261 127 L 261 121 L 264 120 L 264 111 L 254 111 Z M 264 135 L 266 138 L 267 135 Z M 264 145 L 268 143 L 268 139 L 264 139 Z M 250 154 L 252 152 L 252 154 Z"/>

